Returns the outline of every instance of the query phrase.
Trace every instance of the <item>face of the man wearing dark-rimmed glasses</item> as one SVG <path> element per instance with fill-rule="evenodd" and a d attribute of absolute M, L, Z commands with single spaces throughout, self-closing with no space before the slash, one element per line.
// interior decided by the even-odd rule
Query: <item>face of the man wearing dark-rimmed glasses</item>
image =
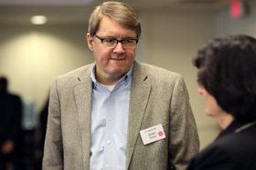
<path fill-rule="evenodd" d="M 118 40 L 137 38 L 134 30 L 123 27 L 105 15 L 101 18 L 97 35 L 101 38 L 115 38 Z M 123 49 L 121 43 L 118 43 L 113 49 L 105 48 L 102 46 L 100 39 L 90 34 L 87 35 L 87 40 L 89 48 L 94 54 L 96 77 L 100 83 L 105 85 L 116 83 L 133 65 L 136 48 Z"/>

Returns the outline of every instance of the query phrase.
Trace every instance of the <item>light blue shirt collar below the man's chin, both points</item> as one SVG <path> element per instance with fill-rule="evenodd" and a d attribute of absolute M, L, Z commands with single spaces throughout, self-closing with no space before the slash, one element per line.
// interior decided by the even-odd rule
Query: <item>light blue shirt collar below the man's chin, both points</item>
<path fill-rule="evenodd" d="M 123 77 L 117 83 L 125 81 L 125 84 L 127 84 L 127 81 L 130 80 L 133 75 L 133 65 L 131 66 L 129 71 L 125 75 L 123 75 Z M 96 63 L 94 62 L 94 65 L 92 66 L 92 69 L 91 69 L 91 81 L 93 83 L 93 88 L 99 85 L 96 79 L 95 71 L 96 71 Z"/>

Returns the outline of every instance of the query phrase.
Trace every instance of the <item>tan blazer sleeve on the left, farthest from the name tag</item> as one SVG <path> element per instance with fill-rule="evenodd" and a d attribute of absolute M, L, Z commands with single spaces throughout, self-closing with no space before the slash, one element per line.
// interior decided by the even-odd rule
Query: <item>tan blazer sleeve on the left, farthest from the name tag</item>
<path fill-rule="evenodd" d="M 43 170 L 63 169 L 63 146 L 61 135 L 60 105 L 57 79 L 51 85 L 47 135 L 44 147 Z"/>

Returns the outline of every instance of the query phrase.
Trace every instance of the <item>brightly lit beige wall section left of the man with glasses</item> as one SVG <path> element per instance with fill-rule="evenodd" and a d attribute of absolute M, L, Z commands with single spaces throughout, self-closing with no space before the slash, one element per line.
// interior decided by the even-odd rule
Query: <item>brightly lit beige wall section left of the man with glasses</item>
<path fill-rule="evenodd" d="M 87 26 L 0 26 L 0 75 L 38 113 L 53 77 L 93 62 Z"/>

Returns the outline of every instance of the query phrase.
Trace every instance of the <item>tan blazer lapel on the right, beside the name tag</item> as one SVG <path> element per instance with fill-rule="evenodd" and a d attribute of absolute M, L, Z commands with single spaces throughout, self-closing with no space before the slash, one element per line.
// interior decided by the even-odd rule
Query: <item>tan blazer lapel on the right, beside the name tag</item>
<path fill-rule="evenodd" d="M 132 159 L 134 146 L 140 134 L 145 107 L 151 91 L 151 84 L 147 83 L 146 79 L 147 75 L 141 69 L 140 65 L 134 62 L 127 135 L 127 169 Z"/>

